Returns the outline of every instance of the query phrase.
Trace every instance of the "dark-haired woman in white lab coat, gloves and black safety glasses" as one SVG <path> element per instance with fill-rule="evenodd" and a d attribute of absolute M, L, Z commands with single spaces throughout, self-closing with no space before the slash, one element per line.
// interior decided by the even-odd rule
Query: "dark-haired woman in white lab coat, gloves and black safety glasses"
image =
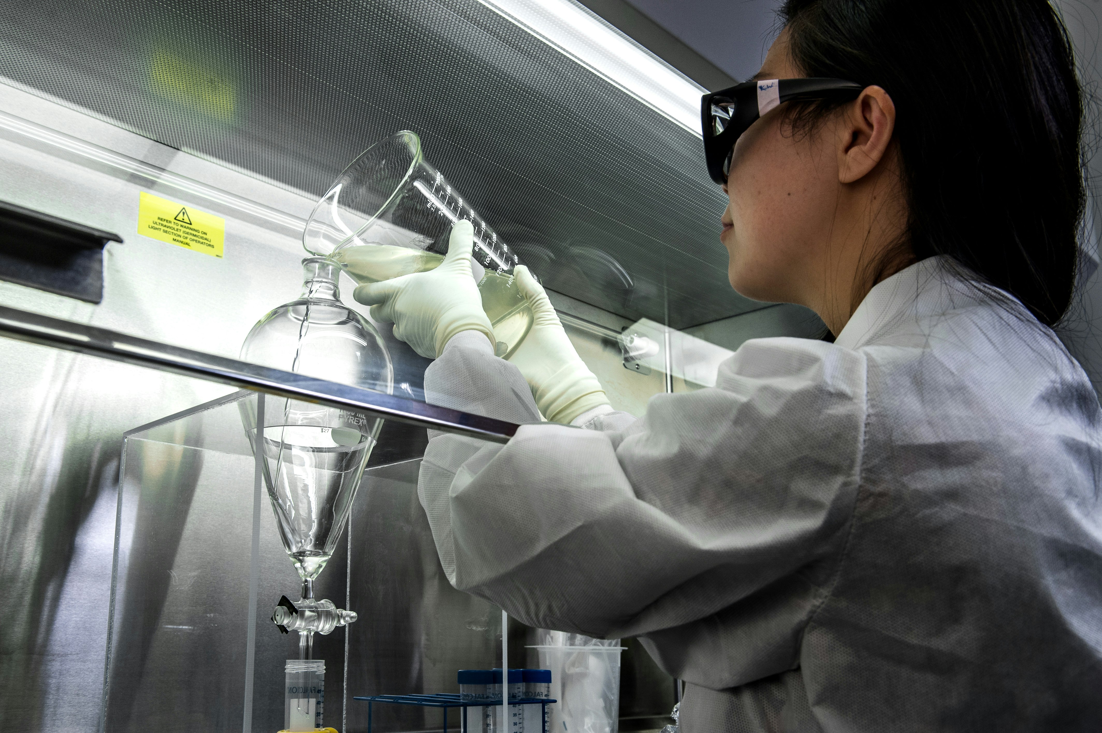
<path fill-rule="evenodd" d="M 1102 730 L 1102 412 L 1049 330 L 1084 202 L 1063 25 L 1045 0 L 782 18 L 755 94 L 709 103 L 709 168 L 731 284 L 833 343 L 749 341 L 636 419 L 523 270 L 536 324 L 494 356 L 462 223 L 437 269 L 356 290 L 437 357 L 431 401 L 529 423 L 431 440 L 441 562 L 533 626 L 638 636 L 688 683 L 682 733 Z M 835 88 L 789 99 L 807 78 Z"/>

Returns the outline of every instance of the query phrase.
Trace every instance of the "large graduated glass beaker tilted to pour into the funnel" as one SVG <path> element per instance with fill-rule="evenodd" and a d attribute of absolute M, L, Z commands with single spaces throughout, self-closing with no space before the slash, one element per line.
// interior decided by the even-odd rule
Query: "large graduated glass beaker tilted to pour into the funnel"
<path fill-rule="evenodd" d="M 483 309 L 498 356 L 509 356 L 532 325 L 512 277 L 520 260 L 424 159 L 415 133 L 398 132 L 360 153 L 314 206 L 302 241 L 341 262 L 357 283 L 379 282 L 440 265 L 460 219 L 474 225 Z"/>

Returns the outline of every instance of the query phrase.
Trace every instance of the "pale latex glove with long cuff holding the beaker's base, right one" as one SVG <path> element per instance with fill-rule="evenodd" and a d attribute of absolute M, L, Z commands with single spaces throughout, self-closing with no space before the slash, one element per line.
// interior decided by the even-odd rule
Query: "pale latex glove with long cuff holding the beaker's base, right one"
<path fill-rule="evenodd" d="M 601 382 L 570 343 L 543 287 L 523 265 L 514 274 L 534 320 L 509 360 L 525 375 L 540 412 L 551 422 L 570 424 L 583 412 L 608 405 Z"/>

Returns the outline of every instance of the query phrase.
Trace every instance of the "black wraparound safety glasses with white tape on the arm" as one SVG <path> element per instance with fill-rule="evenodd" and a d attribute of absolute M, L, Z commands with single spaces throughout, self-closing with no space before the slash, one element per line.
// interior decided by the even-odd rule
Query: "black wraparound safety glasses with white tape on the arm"
<path fill-rule="evenodd" d="M 774 107 L 786 101 L 827 99 L 836 95 L 856 97 L 864 88 L 842 79 L 758 79 L 705 94 L 701 98 L 700 115 L 707 174 L 721 186 L 727 182 L 738 136 Z"/>

